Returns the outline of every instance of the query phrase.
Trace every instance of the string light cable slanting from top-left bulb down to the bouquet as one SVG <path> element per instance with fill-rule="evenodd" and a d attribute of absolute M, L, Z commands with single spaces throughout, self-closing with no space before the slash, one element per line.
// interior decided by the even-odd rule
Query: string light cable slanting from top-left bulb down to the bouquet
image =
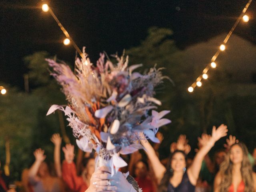
<path fill-rule="evenodd" d="M 58 18 L 56 17 L 56 15 L 54 14 L 54 12 L 52 11 L 52 9 L 48 6 L 48 4 L 43 4 L 42 5 L 42 10 L 44 12 L 50 12 L 51 16 L 54 18 L 54 20 L 57 22 L 58 26 L 60 27 L 60 29 L 62 30 L 62 32 L 64 33 L 64 35 L 66 36 L 66 38 L 68 38 L 70 40 L 70 42 L 72 43 L 72 45 L 74 46 L 74 48 L 76 49 L 76 51 L 78 52 L 78 54 L 82 57 L 85 58 L 85 55 L 87 55 L 86 53 L 82 53 L 82 51 L 80 50 L 80 48 L 76 45 L 76 43 L 74 42 L 74 40 L 70 37 L 70 35 L 68 34 L 67 30 L 63 27 L 63 25 L 61 24 L 61 22 L 58 20 Z"/>

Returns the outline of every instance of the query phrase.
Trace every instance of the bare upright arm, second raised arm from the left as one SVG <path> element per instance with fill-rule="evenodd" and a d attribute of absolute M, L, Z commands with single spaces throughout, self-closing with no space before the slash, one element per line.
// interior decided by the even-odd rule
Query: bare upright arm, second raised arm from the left
<path fill-rule="evenodd" d="M 52 135 L 51 142 L 54 144 L 54 167 L 56 174 L 61 178 L 61 163 L 60 163 L 60 146 L 61 146 L 61 137 L 60 134 L 56 133 Z"/>

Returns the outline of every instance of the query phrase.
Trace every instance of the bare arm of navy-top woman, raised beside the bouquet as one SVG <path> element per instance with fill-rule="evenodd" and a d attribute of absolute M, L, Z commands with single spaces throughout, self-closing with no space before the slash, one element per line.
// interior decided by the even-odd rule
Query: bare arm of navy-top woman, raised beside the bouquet
<path fill-rule="evenodd" d="M 150 145 L 150 143 L 146 139 L 140 140 L 140 143 L 146 149 L 146 154 L 152 164 L 152 168 L 154 170 L 154 174 L 156 176 L 157 183 L 159 184 L 164 176 L 164 173 L 166 172 L 166 168 L 162 165 L 154 148 Z"/>

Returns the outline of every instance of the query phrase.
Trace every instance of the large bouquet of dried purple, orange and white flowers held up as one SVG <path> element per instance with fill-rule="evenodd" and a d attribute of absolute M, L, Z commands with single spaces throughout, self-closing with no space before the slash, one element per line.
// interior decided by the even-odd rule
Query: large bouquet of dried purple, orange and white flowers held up
<path fill-rule="evenodd" d="M 52 105 L 47 115 L 62 110 L 78 147 L 86 152 L 96 150 L 99 162 L 108 163 L 112 174 L 127 165 L 119 154 L 143 148 L 141 132 L 159 142 L 155 137 L 158 128 L 170 123 L 162 118 L 170 111 L 152 110 L 161 105 L 154 98 L 154 88 L 165 78 L 161 69 L 140 74 L 134 70 L 142 64 L 128 66 L 128 56 L 115 57 L 117 64 L 100 54 L 96 66 L 88 57 L 77 58 L 75 73 L 68 65 L 47 59 L 68 100 L 67 106 Z"/>

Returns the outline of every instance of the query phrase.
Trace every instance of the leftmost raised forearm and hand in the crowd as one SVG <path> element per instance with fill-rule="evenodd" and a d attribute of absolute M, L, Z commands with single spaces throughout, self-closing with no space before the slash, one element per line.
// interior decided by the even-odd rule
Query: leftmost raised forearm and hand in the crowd
<path fill-rule="evenodd" d="M 38 172 L 38 169 L 39 169 L 41 163 L 45 160 L 46 156 L 44 155 L 44 150 L 42 150 L 41 148 L 36 149 L 34 151 L 34 156 L 35 156 L 36 160 L 30 167 L 30 169 L 28 170 L 28 176 L 29 176 L 29 178 L 31 178 L 33 180 L 38 180 L 36 174 Z"/>

